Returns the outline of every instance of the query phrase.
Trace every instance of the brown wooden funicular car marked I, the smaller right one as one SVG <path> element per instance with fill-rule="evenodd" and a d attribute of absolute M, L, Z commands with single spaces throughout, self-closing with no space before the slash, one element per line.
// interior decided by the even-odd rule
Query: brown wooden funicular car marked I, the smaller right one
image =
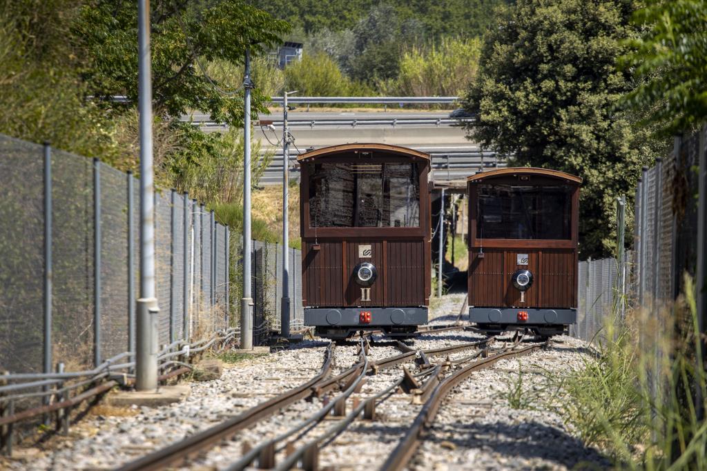
<path fill-rule="evenodd" d="M 469 320 L 479 328 L 550 336 L 577 321 L 581 182 L 537 168 L 467 179 Z"/>

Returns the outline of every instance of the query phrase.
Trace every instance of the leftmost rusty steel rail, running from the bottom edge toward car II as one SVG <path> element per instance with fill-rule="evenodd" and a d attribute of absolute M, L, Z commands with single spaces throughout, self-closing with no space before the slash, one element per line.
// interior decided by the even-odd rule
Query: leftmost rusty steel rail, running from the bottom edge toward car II
<path fill-rule="evenodd" d="M 142 458 L 119 467 L 120 471 L 160 470 L 168 465 L 180 463 L 189 456 L 197 455 L 205 449 L 216 446 L 223 439 L 233 436 L 235 432 L 254 424 L 265 417 L 273 415 L 284 407 L 311 395 L 311 388 L 325 378 L 332 368 L 332 344 L 327 347 L 326 358 L 320 373 L 306 383 L 292 388 L 275 398 L 252 407 L 232 419 L 221 422 L 214 427 L 200 431 L 187 439 L 177 441 L 170 446 L 153 451 Z"/>

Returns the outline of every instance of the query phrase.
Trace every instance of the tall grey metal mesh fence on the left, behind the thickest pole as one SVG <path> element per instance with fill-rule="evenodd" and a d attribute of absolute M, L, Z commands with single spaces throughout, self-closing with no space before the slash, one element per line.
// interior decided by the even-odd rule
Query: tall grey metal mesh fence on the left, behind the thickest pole
<path fill-rule="evenodd" d="M 41 145 L 0 136 L 0 371 L 40 372 L 58 362 L 79 371 L 134 351 L 139 181 L 47 150 L 49 165 Z M 228 229 L 185 198 L 166 191 L 155 201 L 161 344 L 202 338 L 228 321 Z M 52 258 L 45 258 L 49 248 Z M 185 319 L 194 326 L 186 333 Z"/>

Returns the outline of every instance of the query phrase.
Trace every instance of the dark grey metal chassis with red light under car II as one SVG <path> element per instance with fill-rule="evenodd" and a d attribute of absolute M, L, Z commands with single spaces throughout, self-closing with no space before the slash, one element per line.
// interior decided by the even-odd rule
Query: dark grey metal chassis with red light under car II
<path fill-rule="evenodd" d="M 360 330 L 383 330 L 387 335 L 409 337 L 417 326 L 427 323 L 427 307 L 344 307 L 305 308 L 305 326 L 315 326 L 317 335 L 331 339 L 349 338 Z M 361 323 L 362 311 L 370 322 Z"/>

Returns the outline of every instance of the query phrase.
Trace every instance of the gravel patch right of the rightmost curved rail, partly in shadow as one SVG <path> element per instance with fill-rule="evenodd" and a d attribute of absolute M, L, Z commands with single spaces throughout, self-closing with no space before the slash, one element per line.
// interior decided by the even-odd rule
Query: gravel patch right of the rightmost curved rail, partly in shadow
<path fill-rule="evenodd" d="M 502 360 L 455 389 L 422 443 L 412 470 L 606 469 L 610 463 L 583 445 L 562 417 L 545 410 L 556 376 L 583 367 L 581 340 L 555 337 L 548 350 Z M 519 374 L 520 371 L 520 381 Z"/>

